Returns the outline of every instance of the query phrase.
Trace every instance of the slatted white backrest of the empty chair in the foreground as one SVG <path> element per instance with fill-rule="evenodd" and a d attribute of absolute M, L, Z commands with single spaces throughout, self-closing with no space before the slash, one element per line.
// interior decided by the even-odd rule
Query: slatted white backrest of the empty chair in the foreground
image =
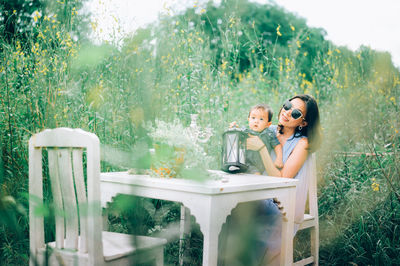
<path fill-rule="evenodd" d="M 81 129 L 44 130 L 29 140 L 29 225 L 33 258 L 45 247 L 44 219 L 35 215 L 43 204 L 42 150 L 48 151 L 55 208 L 56 248 L 89 254 L 89 264 L 103 258 L 100 207 L 100 143 Z M 83 152 L 86 150 L 86 183 Z M 79 241 L 79 243 L 78 243 Z M 98 261 L 100 262 L 100 261 Z"/>

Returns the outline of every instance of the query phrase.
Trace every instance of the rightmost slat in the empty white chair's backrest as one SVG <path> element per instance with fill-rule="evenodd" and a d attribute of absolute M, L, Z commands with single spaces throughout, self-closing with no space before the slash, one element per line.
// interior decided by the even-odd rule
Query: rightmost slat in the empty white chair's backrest
<path fill-rule="evenodd" d="M 85 180 L 83 175 L 83 150 L 73 149 L 72 151 L 72 165 L 74 170 L 75 189 L 78 199 L 79 208 L 79 225 L 80 225 L 80 252 L 86 253 L 87 248 L 87 197 L 85 189 Z"/>

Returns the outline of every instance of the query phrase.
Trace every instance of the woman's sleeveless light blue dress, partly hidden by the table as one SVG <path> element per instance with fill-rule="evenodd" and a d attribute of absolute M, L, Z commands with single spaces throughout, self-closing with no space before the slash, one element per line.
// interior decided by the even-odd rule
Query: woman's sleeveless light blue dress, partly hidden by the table
<path fill-rule="evenodd" d="M 277 132 L 277 126 L 272 125 L 270 128 Z M 285 164 L 289 155 L 296 147 L 297 143 L 303 136 L 292 136 L 288 138 L 283 145 L 283 163 Z M 275 160 L 275 153 L 271 151 L 271 158 Z M 308 156 L 297 175 L 298 179 L 296 188 L 296 206 L 295 206 L 295 234 L 298 224 L 302 222 L 307 198 L 309 175 L 312 173 L 311 156 Z M 266 174 L 266 173 L 264 173 Z M 252 212 L 249 213 L 249 210 Z M 243 215 L 245 214 L 245 215 Z M 244 225 L 241 220 L 248 219 L 248 224 Z M 244 217 L 245 216 L 245 217 Z M 275 257 L 279 254 L 281 248 L 281 230 L 282 219 L 281 212 L 272 199 L 248 202 L 239 204 L 232 211 L 230 217 L 220 235 L 220 254 L 218 265 L 258 265 L 264 256 Z M 231 236 L 233 235 L 233 236 Z M 246 238 L 243 240 L 243 238 Z M 239 241 L 245 242 L 243 248 L 240 249 Z M 251 247 L 251 249 L 249 249 Z M 233 251 L 232 251 L 233 250 Z"/>

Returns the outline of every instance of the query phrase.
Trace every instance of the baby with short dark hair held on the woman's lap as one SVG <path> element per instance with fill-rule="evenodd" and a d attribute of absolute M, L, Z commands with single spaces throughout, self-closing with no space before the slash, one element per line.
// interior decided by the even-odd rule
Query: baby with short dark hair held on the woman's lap
<path fill-rule="evenodd" d="M 282 145 L 275 133 L 269 129 L 271 119 L 272 110 L 268 105 L 257 104 L 253 106 L 247 118 L 249 121 L 249 128 L 246 129 L 246 133 L 258 136 L 264 142 L 269 152 L 274 149 L 276 154 L 274 164 L 276 167 L 282 168 Z M 265 171 L 264 164 L 258 151 L 247 150 L 246 163 L 249 165 L 249 169 L 247 170 L 249 173 L 262 174 Z"/>

